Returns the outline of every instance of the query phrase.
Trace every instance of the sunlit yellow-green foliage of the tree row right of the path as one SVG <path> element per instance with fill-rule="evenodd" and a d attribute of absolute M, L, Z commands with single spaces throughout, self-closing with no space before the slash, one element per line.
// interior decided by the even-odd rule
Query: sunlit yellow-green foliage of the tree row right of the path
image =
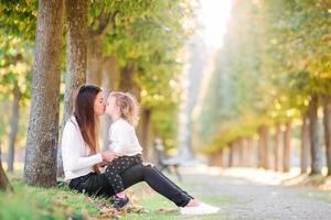
<path fill-rule="evenodd" d="M 330 92 L 330 3 L 236 1 L 197 133 L 213 152 L 263 124 L 299 118 Z"/>

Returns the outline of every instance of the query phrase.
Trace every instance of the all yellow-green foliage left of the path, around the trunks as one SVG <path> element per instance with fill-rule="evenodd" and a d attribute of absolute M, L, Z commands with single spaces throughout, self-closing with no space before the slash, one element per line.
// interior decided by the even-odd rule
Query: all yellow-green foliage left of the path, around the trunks
<path fill-rule="evenodd" d="M 18 81 L 23 94 L 21 105 L 29 105 L 38 0 L 3 1 L 0 12 L 0 100 L 12 99 L 13 82 Z M 134 63 L 142 107 L 164 117 L 152 119 L 152 123 L 163 122 L 156 130 L 164 139 L 174 139 L 177 132 L 173 119 L 181 73 L 178 56 L 188 36 L 184 22 L 191 15 L 188 0 L 94 0 L 89 4 L 89 34 L 106 36 L 103 55 L 113 55 L 120 67 Z M 62 58 L 65 72 L 65 53 Z M 164 109 L 171 109 L 171 113 L 164 113 Z M 1 125 L 1 134 L 8 133 L 6 128 Z"/>

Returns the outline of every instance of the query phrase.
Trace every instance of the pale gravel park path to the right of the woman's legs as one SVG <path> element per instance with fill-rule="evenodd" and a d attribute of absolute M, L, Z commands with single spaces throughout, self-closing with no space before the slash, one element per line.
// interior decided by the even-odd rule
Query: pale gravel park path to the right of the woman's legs
<path fill-rule="evenodd" d="M 234 177 L 231 172 L 186 169 L 182 174 L 180 185 L 218 206 L 220 219 L 331 219 L 331 191 L 268 184 L 264 179 L 269 177 L 260 173 L 260 180 Z"/>

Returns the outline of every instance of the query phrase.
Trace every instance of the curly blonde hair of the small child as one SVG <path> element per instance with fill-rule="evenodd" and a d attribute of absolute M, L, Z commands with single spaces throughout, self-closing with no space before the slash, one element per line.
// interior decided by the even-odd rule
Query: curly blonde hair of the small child
<path fill-rule="evenodd" d="M 129 92 L 113 91 L 109 98 L 115 98 L 115 105 L 119 108 L 120 117 L 131 125 L 137 127 L 139 122 L 140 106 L 134 95 Z"/>

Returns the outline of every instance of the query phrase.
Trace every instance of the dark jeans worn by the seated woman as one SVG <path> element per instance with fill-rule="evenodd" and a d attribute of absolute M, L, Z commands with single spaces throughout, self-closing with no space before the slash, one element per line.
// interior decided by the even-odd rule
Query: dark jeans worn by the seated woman
<path fill-rule="evenodd" d="M 184 207 L 193 199 L 192 196 L 178 187 L 159 169 L 151 165 L 134 165 L 121 173 L 120 176 L 125 189 L 139 182 L 146 182 L 152 189 L 173 201 L 179 207 Z M 86 176 L 74 178 L 71 180 L 70 188 L 95 196 L 110 197 L 115 195 L 105 174 L 89 173 Z"/>

